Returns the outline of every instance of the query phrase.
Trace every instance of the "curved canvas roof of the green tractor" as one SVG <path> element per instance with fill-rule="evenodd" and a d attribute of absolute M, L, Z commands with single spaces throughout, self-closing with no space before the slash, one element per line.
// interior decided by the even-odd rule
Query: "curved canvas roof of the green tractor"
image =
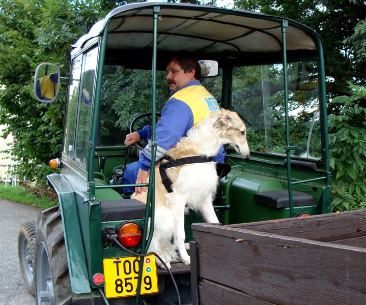
<path fill-rule="evenodd" d="M 311 28 L 284 17 L 203 5 L 133 3 L 110 11 L 73 47 L 82 47 L 108 27 L 107 49 L 152 49 L 152 16 L 156 6 L 160 7 L 157 48 L 162 52 L 184 48 L 195 53 L 234 56 L 235 53 L 276 53 L 281 51 L 283 22 L 288 23 L 288 51 L 315 51 L 319 42 L 322 44 Z"/>

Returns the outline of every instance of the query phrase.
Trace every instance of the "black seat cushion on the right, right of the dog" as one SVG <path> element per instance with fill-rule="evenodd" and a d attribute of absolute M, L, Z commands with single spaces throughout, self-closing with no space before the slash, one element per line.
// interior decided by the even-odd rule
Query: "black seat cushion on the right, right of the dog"
<path fill-rule="evenodd" d="M 292 191 L 292 199 L 294 207 L 314 205 L 314 197 L 303 192 Z M 290 207 L 288 190 L 259 192 L 254 194 L 254 200 L 275 208 Z"/>

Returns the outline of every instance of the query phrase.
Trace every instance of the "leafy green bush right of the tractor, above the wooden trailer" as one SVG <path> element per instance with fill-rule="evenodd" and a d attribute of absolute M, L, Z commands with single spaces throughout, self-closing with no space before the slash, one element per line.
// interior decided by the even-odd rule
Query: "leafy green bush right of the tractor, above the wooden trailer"
<path fill-rule="evenodd" d="M 350 84 L 351 97 L 332 100 L 338 109 L 328 116 L 330 167 L 332 169 L 332 210 L 365 208 L 366 203 L 366 108 L 357 104 L 365 88 Z"/>

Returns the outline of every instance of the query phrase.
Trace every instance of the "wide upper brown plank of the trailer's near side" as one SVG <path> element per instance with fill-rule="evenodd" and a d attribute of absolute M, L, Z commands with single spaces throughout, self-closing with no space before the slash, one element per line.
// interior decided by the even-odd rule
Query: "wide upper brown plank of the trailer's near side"
<path fill-rule="evenodd" d="M 366 249 L 193 224 L 199 277 L 278 305 L 366 303 Z"/>

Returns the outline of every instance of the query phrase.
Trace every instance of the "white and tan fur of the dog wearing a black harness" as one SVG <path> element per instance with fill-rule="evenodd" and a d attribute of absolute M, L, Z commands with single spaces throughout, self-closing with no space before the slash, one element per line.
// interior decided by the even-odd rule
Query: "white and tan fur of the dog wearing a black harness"
<path fill-rule="evenodd" d="M 212 157 L 218 154 L 223 144 L 231 144 L 237 153 L 249 158 L 245 126 L 236 112 L 221 110 L 207 116 L 192 127 L 187 137 L 183 137 L 166 155 L 174 160 L 196 155 Z M 184 213 L 190 208 L 200 212 L 206 222 L 218 223 L 212 206 L 218 185 L 216 164 L 195 163 L 167 169 L 166 173 L 173 183 L 172 193 L 168 193 L 162 184 L 159 165 L 155 169 L 155 224 L 149 252 L 157 253 L 168 268 L 171 268 L 170 262 L 178 261 L 179 258 L 188 265 L 190 257 L 184 246 Z M 147 192 L 134 193 L 132 198 L 146 202 Z M 158 260 L 157 264 L 163 268 Z"/>

